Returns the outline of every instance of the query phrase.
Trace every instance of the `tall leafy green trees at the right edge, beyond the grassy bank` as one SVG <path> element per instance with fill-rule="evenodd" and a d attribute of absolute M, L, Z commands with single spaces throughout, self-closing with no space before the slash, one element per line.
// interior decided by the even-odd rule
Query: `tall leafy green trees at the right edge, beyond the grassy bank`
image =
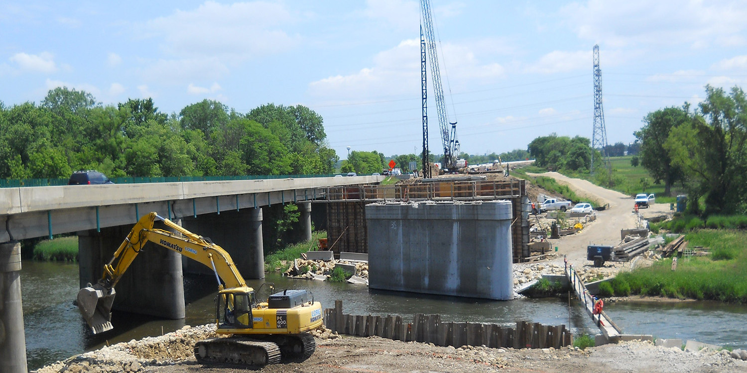
<path fill-rule="evenodd" d="M 667 193 L 680 184 L 692 213 L 746 213 L 747 97 L 740 87 L 708 85 L 705 93 L 696 107 L 685 102 L 645 116 L 635 132 L 641 164 Z"/>

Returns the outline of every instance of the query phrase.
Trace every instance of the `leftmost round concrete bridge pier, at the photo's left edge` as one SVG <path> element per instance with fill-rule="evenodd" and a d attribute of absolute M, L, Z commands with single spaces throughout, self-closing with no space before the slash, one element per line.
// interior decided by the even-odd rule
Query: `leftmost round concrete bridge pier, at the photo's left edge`
<path fill-rule="evenodd" d="M 21 305 L 21 244 L 0 243 L 0 372 L 26 373 Z"/>

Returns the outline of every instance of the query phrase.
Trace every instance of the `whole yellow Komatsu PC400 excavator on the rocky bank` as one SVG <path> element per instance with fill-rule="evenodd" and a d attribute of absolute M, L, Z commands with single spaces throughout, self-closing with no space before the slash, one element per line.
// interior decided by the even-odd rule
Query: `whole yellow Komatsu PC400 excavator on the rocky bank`
<path fill-rule="evenodd" d="M 160 220 L 176 233 L 153 228 Z M 314 353 L 314 336 L 308 332 L 322 325 L 321 304 L 309 300 L 306 290 L 277 292 L 258 301 L 231 256 L 207 237 L 149 213 L 140 218 L 111 261 L 102 278 L 78 292 L 78 310 L 93 333 L 111 330 L 114 286 L 140 254 L 146 242 L 154 242 L 208 266 L 218 281 L 216 297 L 217 338 L 196 342 L 199 363 L 219 363 L 258 368 L 281 358 L 305 360 Z"/>

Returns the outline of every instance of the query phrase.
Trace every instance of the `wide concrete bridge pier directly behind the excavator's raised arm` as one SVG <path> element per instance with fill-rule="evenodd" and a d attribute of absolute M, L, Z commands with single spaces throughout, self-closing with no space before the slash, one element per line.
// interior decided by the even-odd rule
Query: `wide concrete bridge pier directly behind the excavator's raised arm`
<path fill-rule="evenodd" d="M 178 219 L 174 222 L 180 223 Z M 120 225 L 102 228 L 100 232 L 78 232 L 81 287 L 101 278 L 104 264 L 111 260 L 130 230 L 131 226 Z M 182 255 L 153 242 L 146 243 L 115 289 L 114 310 L 165 319 L 185 317 Z"/>

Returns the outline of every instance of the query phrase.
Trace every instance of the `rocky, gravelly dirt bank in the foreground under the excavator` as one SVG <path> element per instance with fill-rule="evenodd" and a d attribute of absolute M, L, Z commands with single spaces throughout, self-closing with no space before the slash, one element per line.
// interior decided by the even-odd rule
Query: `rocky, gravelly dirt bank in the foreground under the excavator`
<path fill-rule="evenodd" d="M 53 372 L 246 372 L 202 366 L 193 356 L 199 339 L 214 336 L 214 325 L 183 327 L 164 336 L 122 342 L 39 369 Z M 317 351 L 303 362 L 266 366 L 262 372 L 747 372 L 747 361 L 729 351 L 682 351 L 651 342 L 622 342 L 586 348 L 462 348 L 400 342 L 379 337 L 317 333 Z"/>

